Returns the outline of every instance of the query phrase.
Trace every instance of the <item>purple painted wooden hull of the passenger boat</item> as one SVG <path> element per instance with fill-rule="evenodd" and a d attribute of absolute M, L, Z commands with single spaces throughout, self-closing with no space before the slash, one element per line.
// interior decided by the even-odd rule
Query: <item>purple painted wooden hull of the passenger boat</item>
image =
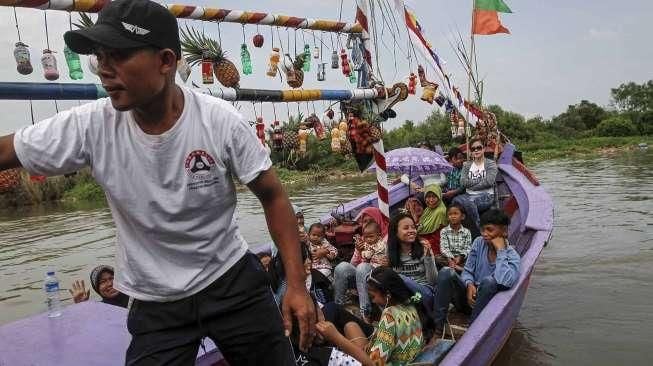
<path fill-rule="evenodd" d="M 512 165 L 514 147 L 508 145 L 499 160 L 499 188 L 514 196 L 519 208 L 512 216 L 510 242 L 522 256 L 521 277 L 509 291 L 498 293 L 481 315 L 457 340 L 440 365 L 487 365 L 507 340 L 524 302 L 530 276 L 553 229 L 553 201 L 546 191 L 531 183 Z M 409 195 L 404 184 L 390 188 L 390 205 Z M 377 205 L 372 193 L 344 205 L 352 216 Z M 323 222 L 330 215 L 322 218 Z M 0 327 L 0 366 L 124 364 L 130 335 L 127 310 L 96 302 L 69 306 L 64 315 L 50 319 L 45 314 Z M 197 365 L 226 366 L 220 351 L 210 341 L 200 350 Z"/>

